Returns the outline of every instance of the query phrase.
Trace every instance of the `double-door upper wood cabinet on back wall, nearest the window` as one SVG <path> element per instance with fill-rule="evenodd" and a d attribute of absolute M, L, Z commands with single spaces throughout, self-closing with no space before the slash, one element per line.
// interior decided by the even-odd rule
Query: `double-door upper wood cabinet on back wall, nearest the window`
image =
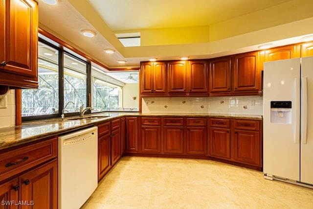
<path fill-rule="evenodd" d="M 140 93 L 166 93 L 165 62 L 142 62 L 140 68 Z"/>

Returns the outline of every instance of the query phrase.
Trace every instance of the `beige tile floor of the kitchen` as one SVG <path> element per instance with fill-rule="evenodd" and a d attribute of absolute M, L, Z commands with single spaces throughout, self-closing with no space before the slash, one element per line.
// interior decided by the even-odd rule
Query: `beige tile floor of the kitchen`
<path fill-rule="evenodd" d="M 313 209 L 313 189 L 215 161 L 125 156 L 81 209 Z"/>

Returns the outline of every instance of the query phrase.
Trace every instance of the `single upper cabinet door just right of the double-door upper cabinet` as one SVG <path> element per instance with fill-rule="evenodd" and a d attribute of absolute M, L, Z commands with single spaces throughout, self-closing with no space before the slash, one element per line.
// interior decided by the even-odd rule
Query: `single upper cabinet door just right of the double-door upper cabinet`
<path fill-rule="evenodd" d="M 169 93 L 186 93 L 186 62 L 169 62 L 167 69 L 167 79 Z"/>

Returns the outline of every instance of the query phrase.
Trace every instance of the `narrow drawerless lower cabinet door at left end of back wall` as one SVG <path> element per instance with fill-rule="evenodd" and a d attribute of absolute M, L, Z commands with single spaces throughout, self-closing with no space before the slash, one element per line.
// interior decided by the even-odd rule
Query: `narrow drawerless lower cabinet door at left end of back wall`
<path fill-rule="evenodd" d="M 126 117 L 126 148 L 125 152 L 138 151 L 138 120 L 137 117 Z"/>

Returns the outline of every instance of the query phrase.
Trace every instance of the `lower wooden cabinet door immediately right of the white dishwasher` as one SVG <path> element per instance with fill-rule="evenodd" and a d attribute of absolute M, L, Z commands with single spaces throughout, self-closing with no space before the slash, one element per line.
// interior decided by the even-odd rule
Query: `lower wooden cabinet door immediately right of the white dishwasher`
<path fill-rule="evenodd" d="M 110 133 L 98 138 L 98 181 L 111 168 L 111 136 Z"/>

